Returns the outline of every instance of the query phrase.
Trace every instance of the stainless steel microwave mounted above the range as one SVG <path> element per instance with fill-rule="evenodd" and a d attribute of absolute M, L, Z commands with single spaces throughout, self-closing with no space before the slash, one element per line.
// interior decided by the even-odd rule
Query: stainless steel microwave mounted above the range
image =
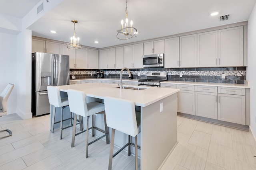
<path fill-rule="evenodd" d="M 164 54 L 143 55 L 143 67 L 164 67 Z"/>

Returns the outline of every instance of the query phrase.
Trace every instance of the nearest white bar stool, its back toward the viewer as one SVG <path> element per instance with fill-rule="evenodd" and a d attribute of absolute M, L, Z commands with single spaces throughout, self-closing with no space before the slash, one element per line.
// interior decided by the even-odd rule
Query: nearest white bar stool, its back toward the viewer
<path fill-rule="evenodd" d="M 135 111 L 135 104 L 132 101 L 119 99 L 119 98 L 104 98 L 106 120 L 108 127 L 112 128 L 111 131 L 111 142 L 110 142 L 110 154 L 108 162 L 108 170 L 112 169 L 112 160 L 119 152 L 128 146 L 128 155 L 131 154 L 130 145 L 131 138 L 135 137 L 135 169 L 138 170 L 138 143 L 137 135 L 140 133 L 140 112 Z M 128 143 L 124 145 L 120 150 L 113 154 L 114 150 L 114 138 L 115 131 L 118 130 L 122 133 L 129 135 Z"/>

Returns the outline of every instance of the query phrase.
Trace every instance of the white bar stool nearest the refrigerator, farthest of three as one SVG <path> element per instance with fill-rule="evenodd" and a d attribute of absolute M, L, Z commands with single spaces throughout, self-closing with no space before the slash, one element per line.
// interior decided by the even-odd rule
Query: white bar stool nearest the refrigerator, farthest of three
<path fill-rule="evenodd" d="M 54 132 L 54 124 L 60 123 L 60 139 L 62 139 L 62 130 L 73 126 L 72 113 L 70 112 L 70 118 L 68 118 L 68 119 L 70 119 L 70 125 L 67 127 L 62 127 L 62 121 L 68 120 L 68 119 L 63 120 L 63 109 L 68 106 L 68 98 L 61 98 L 59 87 L 47 86 L 47 91 L 48 91 L 49 102 L 51 105 L 53 105 L 51 133 Z M 61 107 L 60 121 L 58 121 L 58 122 L 55 122 L 56 107 Z M 76 120 L 76 119 L 74 119 L 74 120 Z M 74 121 L 74 122 L 76 122 L 76 121 Z M 79 123 L 80 123 L 80 129 L 83 130 L 81 117 L 79 117 Z"/>

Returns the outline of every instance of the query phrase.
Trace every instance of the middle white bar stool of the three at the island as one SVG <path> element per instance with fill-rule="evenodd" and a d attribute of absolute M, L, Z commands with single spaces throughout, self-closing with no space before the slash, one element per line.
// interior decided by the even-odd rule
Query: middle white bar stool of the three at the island
<path fill-rule="evenodd" d="M 75 136 L 86 131 L 86 158 L 88 158 L 89 145 L 91 145 L 92 143 L 98 141 L 103 137 L 106 137 L 106 144 L 109 144 L 109 135 L 108 135 L 108 127 L 106 125 L 106 115 L 104 112 L 105 111 L 104 104 L 100 102 L 87 103 L 85 92 L 78 91 L 78 90 L 71 90 L 71 89 L 68 90 L 68 101 L 69 101 L 70 111 L 74 113 L 74 119 L 76 119 L 77 115 L 80 115 L 82 117 L 87 117 L 86 130 L 80 131 L 79 133 L 76 133 L 76 122 L 74 122 L 71 147 L 74 147 Z M 94 114 L 98 114 L 98 113 L 104 114 L 105 131 L 98 127 L 94 127 L 93 116 Z M 89 128 L 88 124 L 89 124 L 89 118 L 91 115 L 92 115 L 92 127 Z M 101 137 L 98 137 L 94 141 L 88 143 L 88 130 L 90 129 L 92 129 L 92 136 L 94 136 L 94 129 L 101 131 L 102 133 L 105 133 L 105 134 L 102 135 Z"/>

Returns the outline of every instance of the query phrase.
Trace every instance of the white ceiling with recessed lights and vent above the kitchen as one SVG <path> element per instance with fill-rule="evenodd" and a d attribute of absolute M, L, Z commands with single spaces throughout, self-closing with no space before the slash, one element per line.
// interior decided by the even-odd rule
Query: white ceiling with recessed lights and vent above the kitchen
<path fill-rule="evenodd" d="M 28 6 L 40 0 L 0 2 L 0 13 L 22 18 L 29 11 Z M 10 8 L 3 7 L 2 2 Z M 22 9 L 14 7 L 14 2 Z M 20 5 L 21 2 L 26 6 Z M 69 42 L 74 29 L 71 20 L 78 20 L 76 36 L 80 37 L 80 43 L 103 48 L 246 21 L 255 3 L 256 0 L 128 0 L 128 19 L 133 20 L 139 33 L 136 38 L 119 40 L 116 30 L 125 19 L 125 0 L 64 0 L 29 29 L 34 36 Z M 212 11 L 220 14 L 210 16 Z M 226 14 L 230 14 L 230 20 L 219 21 L 219 16 Z M 49 30 L 57 33 L 52 34 Z"/>

